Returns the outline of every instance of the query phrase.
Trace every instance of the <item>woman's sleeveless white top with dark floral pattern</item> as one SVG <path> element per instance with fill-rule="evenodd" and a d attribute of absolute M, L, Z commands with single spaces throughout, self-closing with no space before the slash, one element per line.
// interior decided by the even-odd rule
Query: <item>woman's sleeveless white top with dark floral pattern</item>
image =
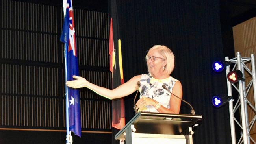
<path fill-rule="evenodd" d="M 178 80 L 171 76 L 166 79 L 155 79 L 151 74 L 142 74 L 140 80 L 141 86 L 139 88 L 140 98 L 143 96 L 152 98 L 162 106 L 170 109 L 171 95 L 167 90 L 163 89 L 162 85 L 165 85 L 172 92 L 176 81 Z M 144 111 L 158 113 L 152 105 L 147 105 L 146 108 Z"/>

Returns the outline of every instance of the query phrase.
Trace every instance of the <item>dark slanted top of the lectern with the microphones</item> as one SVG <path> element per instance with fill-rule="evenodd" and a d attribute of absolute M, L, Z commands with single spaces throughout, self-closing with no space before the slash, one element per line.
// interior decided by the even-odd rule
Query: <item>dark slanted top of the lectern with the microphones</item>
<path fill-rule="evenodd" d="M 201 120 L 201 115 L 139 112 L 115 138 L 122 137 L 122 133 L 132 124 L 136 129 L 135 133 L 181 135 L 189 127 L 199 125 Z"/>

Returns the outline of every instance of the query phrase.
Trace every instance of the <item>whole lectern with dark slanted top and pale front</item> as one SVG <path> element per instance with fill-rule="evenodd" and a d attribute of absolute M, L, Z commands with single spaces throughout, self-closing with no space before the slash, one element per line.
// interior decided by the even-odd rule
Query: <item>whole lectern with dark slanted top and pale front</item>
<path fill-rule="evenodd" d="M 116 135 L 126 144 L 193 144 L 192 127 L 201 115 L 137 113 Z"/>

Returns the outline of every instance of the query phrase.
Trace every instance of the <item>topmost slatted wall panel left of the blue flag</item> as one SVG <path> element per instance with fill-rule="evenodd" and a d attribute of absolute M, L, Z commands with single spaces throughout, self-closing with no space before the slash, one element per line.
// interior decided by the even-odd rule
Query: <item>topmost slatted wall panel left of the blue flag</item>
<path fill-rule="evenodd" d="M 2 28 L 57 33 L 56 6 L 2 0 Z"/>

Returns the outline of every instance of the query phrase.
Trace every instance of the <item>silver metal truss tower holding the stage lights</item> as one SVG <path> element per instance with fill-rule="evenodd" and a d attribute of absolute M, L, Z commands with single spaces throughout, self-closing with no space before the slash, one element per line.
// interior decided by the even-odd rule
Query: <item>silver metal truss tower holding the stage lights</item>
<path fill-rule="evenodd" d="M 238 87 L 234 83 L 230 83 L 227 80 L 228 96 L 232 96 L 232 86 L 234 87 L 234 89 L 237 90 L 237 92 L 239 92 L 239 99 L 237 100 L 235 107 L 233 106 L 234 100 L 230 100 L 228 102 L 232 144 L 236 144 L 235 122 L 242 129 L 242 132 L 241 132 L 242 134 L 237 144 L 242 144 L 242 143 L 250 144 L 250 142 L 253 142 L 254 144 L 256 144 L 256 142 L 250 137 L 250 131 L 256 121 L 256 114 L 254 114 L 254 118 L 252 118 L 252 120 L 249 122 L 248 111 L 247 111 L 247 105 L 249 105 L 249 107 L 254 111 L 254 113 L 256 113 L 255 57 L 254 57 L 254 54 L 251 54 L 251 57 L 241 57 L 239 52 L 237 52 L 236 55 L 237 56 L 233 59 L 229 59 L 229 57 L 225 57 L 225 61 L 229 63 L 235 63 L 232 71 L 235 69 L 240 70 L 243 73 L 243 78 L 245 78 L 245 70 L 246 70 L 248 74 L 252 77 L 252 80 L 248 83 L 247 86 L 245 86 L 245 81 L 239 80 Z M 251 70 L 245 65 L 246 63 L 251 63 L 251 66 L 252 66 Z M 226 75 L 228 74 L 228 72 L 230 72 L 230 65 L 226 66 Z M 252 103 L 250 103 L 250 101 L 247 99 L 247 95 L 251 88 L 253 88 L 255 105 L 252 105 Z M 240 110 L 241 124 L 234 117 L 234 114 L 238 110 Z"/>

